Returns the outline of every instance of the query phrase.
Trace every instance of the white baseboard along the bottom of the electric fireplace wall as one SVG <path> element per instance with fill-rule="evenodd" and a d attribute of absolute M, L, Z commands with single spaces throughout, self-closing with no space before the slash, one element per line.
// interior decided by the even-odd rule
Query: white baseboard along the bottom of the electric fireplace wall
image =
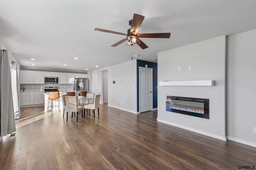
<path fill-rule="evenodd" d="M 188 131 L 192 131 L 192 132 L 196 132 L 196 133 L 199 133 L 199 134 L 202 134 L 202 135 L 206 135 L 208 137 L 213 137 L 213 138 L 216 138 L 216 139 L 220 139 L 222 141 L 227 141 L 227 137 L 222 137 L 222 136 L 219 136 L 219 135 L 214 135 L 212 133 L 200 131 L 198 129 L 193 129 L 193 128 L 182 126 L 182 125 L 178 125 L 176 123 L 171 123 L 171 122 L 164 121 L 164 120 L 161 120 L 161 119 L 157 119 L 157 121 L 165 123 L 165 124 L 168 124 L 168 125 L 172 125 L 172 126 L 175 126 L 175 127 L 179 127 L 179 128 L 182 128 L 182 129 L 186 129 Z"/>

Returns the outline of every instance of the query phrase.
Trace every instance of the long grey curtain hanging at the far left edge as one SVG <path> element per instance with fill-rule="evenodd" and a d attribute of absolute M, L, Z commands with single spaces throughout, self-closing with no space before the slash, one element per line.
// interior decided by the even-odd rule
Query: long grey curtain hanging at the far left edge
<path fill-rule="evenodd" d="M 16 131 L 12 103 L 11 72 L 8 51 L 1 50 L 0 60 L 0 136 Z"/>

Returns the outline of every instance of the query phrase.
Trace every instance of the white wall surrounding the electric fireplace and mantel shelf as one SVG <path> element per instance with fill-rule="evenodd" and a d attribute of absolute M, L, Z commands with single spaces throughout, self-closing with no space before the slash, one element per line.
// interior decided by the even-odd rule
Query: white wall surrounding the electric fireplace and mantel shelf
<path fill-rule="evenodd" d="M 158 53 L 159 81 L 215 80 L 215 86 L 158 86 L 158 121 L 226 140 L 226 36 Z M 192 70 L 188 70 L 188 66 Z M 181 71 L 178 72 L 178 67 Z M 210 119 L 166 111 L 166 95 L 206 98 Z"/>

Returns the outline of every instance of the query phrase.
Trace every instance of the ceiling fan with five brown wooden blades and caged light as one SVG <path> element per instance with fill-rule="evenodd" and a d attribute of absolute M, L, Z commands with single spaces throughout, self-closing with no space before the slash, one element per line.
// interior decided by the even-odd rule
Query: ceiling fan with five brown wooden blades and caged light
<path fill-rule="evenodd" d="M 146 48 L 148 48 L 148 46 L 145 43 L 143 43 L 143 41 L 141 41 L 139 38 L 170 38 L 171 33 L 141 33 L 141 34 L 138 34 L 138 30 L 139 30 L 140 25 L 142 24 L 142 21 L 144 20 L 144 18 L 145 17 L 142 15 L 134 14 L 133 19 L 129 21 L 129 25 L 131 26 L 131 29 L 128 29 L 127 33 L 119 33 L 116 31 L 109 31 L 109 30 L 100 29 L 100 28 L 95 28 L 94 30 L 126 36 L 126 38 L 111 45 L 111 47 L 116 47 L 116 46 L 120 45 L 121 43 L 124 43 L 125 45 L 128 45 L 128 46 L 139 45 L 142 49 L 146 49 Z"/>

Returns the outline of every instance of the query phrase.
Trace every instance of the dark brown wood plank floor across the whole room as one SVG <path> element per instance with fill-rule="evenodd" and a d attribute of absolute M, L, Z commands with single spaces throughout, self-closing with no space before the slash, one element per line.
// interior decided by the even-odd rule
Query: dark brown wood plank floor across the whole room
<path fill-rule="evenodd" d="M 16 136 L 0 141 L 1 170 L 256 168 L 256 148 L 157 122 L 157 111 L 136 115 L 104 104 L 100 117 L 66 122 L 62 111 L 43 110 L 21 108 Z"/>

